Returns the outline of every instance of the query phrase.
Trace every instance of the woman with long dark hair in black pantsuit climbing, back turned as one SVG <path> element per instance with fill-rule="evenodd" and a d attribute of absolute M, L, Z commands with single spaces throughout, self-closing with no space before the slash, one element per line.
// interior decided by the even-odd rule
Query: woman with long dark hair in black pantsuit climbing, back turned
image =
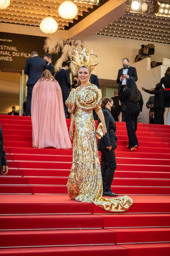
<path fill-rule="evenodd" d="M 125 102 L 126 128 L 129 139 L 128 148 L 133 152 L 138 147 L 136 137 L 137 118 L 142 111 L 143 98 L 133 78 L 127 79 L 126 87 L 119 100 Z"/>

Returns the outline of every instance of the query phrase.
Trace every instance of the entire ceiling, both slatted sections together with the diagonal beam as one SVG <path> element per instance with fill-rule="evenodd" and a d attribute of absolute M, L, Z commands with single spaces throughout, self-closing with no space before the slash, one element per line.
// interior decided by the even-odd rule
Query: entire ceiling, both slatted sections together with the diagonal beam
<path fill-rule="evenodd" d="M 11 23 L 10 32 L 16 32 L 14 26 L 20 25 L 26 29 L 31 26 L 37 35 L 40 22 L 48 16 L 50 6 L 50 15 L 59 25 L 58 35 L 59 32 L 65 33 L 61 35 L 62 38 L 84 40 L 96 33 L 170 44 L 170 17 L 156 17 L 153 5 L 150 13 L 132 14 L 125 12 L 126 0 L 101 0 L 100 6 L 75 3 L 78 15 L 72 20 L 65 20 L 57 12 L 62 2 L 64 0 L 11 0 L 8 8 L 0 10 L 0 22 L 6 23 L 6 26 Z M 6 32 L 6 26 L 4 24 L 1 30 Z M 45 34 L 41 32 L 41 35 Z"/>

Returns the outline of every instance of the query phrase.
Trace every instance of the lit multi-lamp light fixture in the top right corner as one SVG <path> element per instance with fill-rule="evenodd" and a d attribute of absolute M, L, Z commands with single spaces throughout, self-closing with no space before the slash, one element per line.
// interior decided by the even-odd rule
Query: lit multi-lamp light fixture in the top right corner
<path fill-rule="evenodd" d="M 170 4 L 167 4 L 166 1 L 167 0 L 164 0 L 164 2 L 156 1 L 154 4 L 154 14 L 156 16 L 170 17 Z"/>

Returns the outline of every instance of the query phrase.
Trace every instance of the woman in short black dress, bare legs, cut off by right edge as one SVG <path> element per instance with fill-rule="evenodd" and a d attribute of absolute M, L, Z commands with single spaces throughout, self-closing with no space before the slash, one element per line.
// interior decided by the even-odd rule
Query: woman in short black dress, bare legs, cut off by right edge
<path fill-rule="evenodd" d="M 167 115 L 170 110 L 170 67 L 167 68 L 165 76 L 161 78 L 157 89 L 160 89 L 162 84 L 164 84 L 164 125 L 167 125 Z M 151 90 L 155 89 L 151 88 Z"/>

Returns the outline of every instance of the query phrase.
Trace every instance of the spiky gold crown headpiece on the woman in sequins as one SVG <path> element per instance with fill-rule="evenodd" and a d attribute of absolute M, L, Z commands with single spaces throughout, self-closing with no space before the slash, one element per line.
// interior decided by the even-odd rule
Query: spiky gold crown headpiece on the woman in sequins
<path fill-rule="evenodd" d="M 74 52 L 75 53 L 71 55 L 71 62 L 77 67 L 77 70 L 85 66 L 92 73 L 97 64 L 99 64 L 99 57 L 93 53 L 92 49 L 84 48 L 81 53 L 77 52 L 76 49 Z M 96 56 L 97 60 L 93 60 L 93 56 Z M 73 58 L 75 58 L 76 62 L 73 61 Z"/>

